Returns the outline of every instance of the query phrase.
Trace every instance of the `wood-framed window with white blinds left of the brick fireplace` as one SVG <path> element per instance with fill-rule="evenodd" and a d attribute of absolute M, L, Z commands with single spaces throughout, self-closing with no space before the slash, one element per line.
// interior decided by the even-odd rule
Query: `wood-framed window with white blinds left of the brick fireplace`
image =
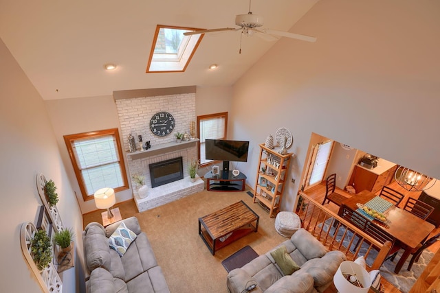
<path fill-rule="evenodd" d="M 64 141 L 84 200 L 103 187 L 129 188 L 118 128 L 65 135 Z"/>

